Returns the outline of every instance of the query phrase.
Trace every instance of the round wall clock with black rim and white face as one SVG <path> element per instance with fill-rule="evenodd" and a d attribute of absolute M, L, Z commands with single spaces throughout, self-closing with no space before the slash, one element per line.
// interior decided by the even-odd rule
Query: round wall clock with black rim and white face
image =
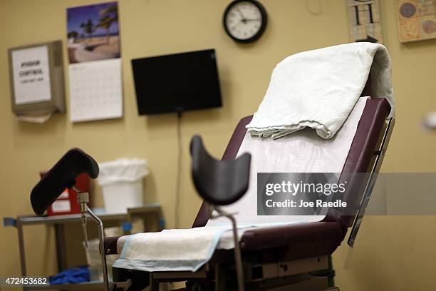
<path fill-rule="evenodd" d="M 264 32 L 265 26 L 266 12 L 257 1 L 233 1 L 224 12 L 224 28 L 235 41 L 255 41 Z"/>

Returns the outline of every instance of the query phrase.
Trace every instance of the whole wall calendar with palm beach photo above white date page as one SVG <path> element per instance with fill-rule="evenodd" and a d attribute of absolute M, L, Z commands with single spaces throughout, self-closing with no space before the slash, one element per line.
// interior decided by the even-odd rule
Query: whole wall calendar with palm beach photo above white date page
<path fill-rule="evenodd" d="M 118 4 L 67 9 L 71 121 L 123 116 Z"/>

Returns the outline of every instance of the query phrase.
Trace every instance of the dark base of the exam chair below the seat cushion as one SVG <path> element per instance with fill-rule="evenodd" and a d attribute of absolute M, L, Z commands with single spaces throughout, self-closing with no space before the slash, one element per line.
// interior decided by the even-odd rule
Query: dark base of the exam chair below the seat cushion
<path fill-rule="evenodd" d="M 328 277 L 314 276 L 312 272 L 328 268 L 328 256 L 270 263 L 244 263 L 244 285 L 254 291 L 321 291 L 329 289 Z M 116 269 L 115 269 L 116 270 Z M 186 281 L 180 290 L 238 290 L 234 263 L 217 262 L 204 265 L 197 272 L 136 272 L 135 278 L 123 276 L 123 270 L 114 270 L 114 279 L 130 279 L 142 289 L 159 290 L 160 283 Z M 127 270 L 125 270 L 127 272 Z M 131 272 L 131 271 L 130 271 Z M 117 275 L 115 276 L 115 273 Z M 121 276 L 120 276 L 121 274 Z M 145 286 L 144 286 L 145 285 Z M 163 284 L 162 284 L 163 285 Z M 129 291 L 142 290 L 131 288 Z"/>

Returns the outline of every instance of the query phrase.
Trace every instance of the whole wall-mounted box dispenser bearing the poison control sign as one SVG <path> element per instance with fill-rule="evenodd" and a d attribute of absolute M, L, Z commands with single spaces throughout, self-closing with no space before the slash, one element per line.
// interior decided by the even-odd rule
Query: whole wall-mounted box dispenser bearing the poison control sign
<path fill-rule="evenodd" d="M 62 42 L 9 48 L 12 111 L 24 121 L 44 122 L 65 112 Z"/>

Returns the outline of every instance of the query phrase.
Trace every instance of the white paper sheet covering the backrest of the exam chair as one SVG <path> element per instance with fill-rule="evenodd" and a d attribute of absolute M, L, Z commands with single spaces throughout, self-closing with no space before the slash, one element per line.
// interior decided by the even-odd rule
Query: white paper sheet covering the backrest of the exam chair
<path fill-rule="evenodd" d="M 359 98 L 341 130 L 329 140 L 320 138 L 311 128 L 274 141 L 271 138 L 257 138 L 246 133 L 237 155 L 251 153 L 249 190 L 236 203 L 222 208 L 230 213 L 237 213 L 235 216 L 238 224 L 323 220 L 325 215 L 258 216 L 257 173 L 341 173 L 367 99 L 368 97 Z M 217 218 L 209 220 L 207 226 L 227 223 L 227 218 Z"/>

